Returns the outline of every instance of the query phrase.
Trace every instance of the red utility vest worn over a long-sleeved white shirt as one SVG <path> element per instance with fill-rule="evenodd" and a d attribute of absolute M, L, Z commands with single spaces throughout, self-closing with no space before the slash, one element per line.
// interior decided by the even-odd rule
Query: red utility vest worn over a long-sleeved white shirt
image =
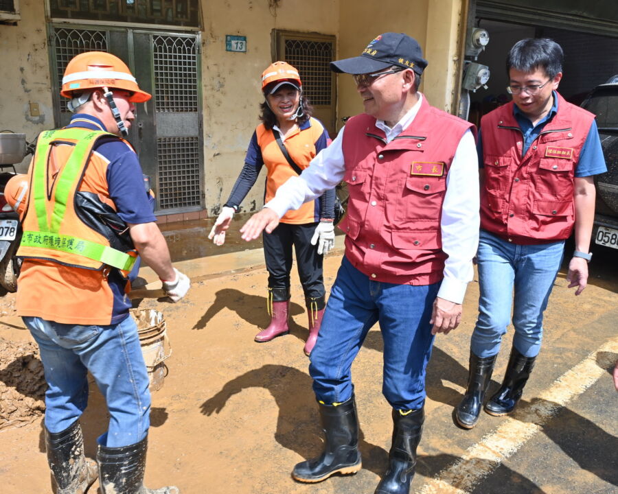
<path fill-rule="evenodd" d="M 350 200 L 339 224 L 345 256 L 376 281 L 428 285 L 444 277 L 440 216 L 446 175 L 469 122 L 423 97 L 412 124 L 388 144 L 369 115 L 343 132 Z"/>

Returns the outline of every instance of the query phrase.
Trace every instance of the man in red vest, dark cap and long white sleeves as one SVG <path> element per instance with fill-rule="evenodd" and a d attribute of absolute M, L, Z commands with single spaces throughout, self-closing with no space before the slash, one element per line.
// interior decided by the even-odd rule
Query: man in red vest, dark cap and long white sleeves
<path fill-rule="evenodd" d="M 393 443 L 376 493 L 409 492 L 426 365 L 435 333 L 459 324 L 479 226 L 474 127 L 418 92 L 426 65 L 416 40 L 397 33 L 377 36 L 361 56 L 332 62 L 334 71 L 354 75 L 365 113 L 349 119 L 241 230 L 247 240 L 264 228 L 270 233 L 288 209 L 347 183 L 345 257 L 310 355 L 325 449 L 296 465 L 292 475 L 301 482 L 361 469 L 350 368 L 379 322 Z"/>

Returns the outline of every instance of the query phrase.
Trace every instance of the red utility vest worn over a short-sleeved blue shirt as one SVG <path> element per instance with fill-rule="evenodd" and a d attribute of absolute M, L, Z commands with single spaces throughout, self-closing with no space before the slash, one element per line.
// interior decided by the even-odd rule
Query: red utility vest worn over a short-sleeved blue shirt
<path fill-rule="evenodd" d="M 522 156 L 513 105 L 481 119 L 481 228 L 515 244 L 566 239 L 575 224 L 575 169 L 595 116 L 558 95 L 558 113 Z"/>

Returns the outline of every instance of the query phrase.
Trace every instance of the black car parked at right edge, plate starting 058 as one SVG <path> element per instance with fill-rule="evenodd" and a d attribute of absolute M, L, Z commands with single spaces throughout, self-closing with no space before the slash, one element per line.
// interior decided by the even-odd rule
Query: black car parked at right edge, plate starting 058
<path fill-rule="evenodd" d="M 607 172 L 595 176 L 597 207 L 592 245 L 618 249 L 618 75 L 600 84 L 582 108 L 597 115 Z"/>

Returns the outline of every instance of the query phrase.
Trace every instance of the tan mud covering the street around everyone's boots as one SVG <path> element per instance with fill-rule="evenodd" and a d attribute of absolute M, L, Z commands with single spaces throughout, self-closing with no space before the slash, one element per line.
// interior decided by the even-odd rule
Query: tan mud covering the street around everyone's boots
<path fill-rule="evenodd" d="M 225 269 L 221 259 L 211 258 L 205 262 L 218 263 L 217 268 Z M 325 259 L 324 281 L 329 289 L 340 263 L 341 255 L 329 255 Z M 263 264 L 258 262 L 256 266 L 250 272 L 195 278 L 188 296 L 177 304 L 148 298 L 136 301 L 140 309 L 163 311 L 173 349 L 172 356 L 165 362 L 169 374 L 163 387 L 152 393 L 146 485 L 154 489 L 176 484 L 183 494 L 373 492 L 385 472 L 392 432 L 391 410 L 382 397 L 383 346 L 379 331 L 377 328 L 369 331 L 352 367 L 361 423 L 363 469 L 351 477 L 335 476 L 320 484 L 294 482 L 290 477 L 294 464 L 319 453 L 323 444 L 308 375 L 308 359 L 303 353 L 308 316 L 294 268 L 290 334 L 264 344 L 253 342 L 255 333 L 268 324 L 268 273 Z M 599 264 L 599 269 L 602 266 Z M 611 272 L 608 266 L 613 265 L 605 266 L 604 272 Z M 604 273 L 595 274 L 584 295 L 575 298 L 573 290 L 567 288 L 564 272 L 559 275 L 546 313 L 542 358 L 534 379 L 527 386 L 525 403 L 537 397 L 541 390 L 548 388 L 599 344 L 615 336 L 615 325 L 595 324 L 603 314 L 615 314 L 618 282 L 613 280 L 618 277 L 612 276 L 608 280 Z M 451 417 L 468 378 L 468 349 L 477 316 L 478 294 L 478 283 L 474 281 L 466 293 L 460 327 L 448 336 L 436 338 L 426 379 L 425 432 L 418 450 L 419 462 L 411 492 L 417 493 L 424 482 L 457 461 L 470 445 L 503 421 L 483 414 L 474 430 L 464 431 L 453 424 Z M 18 367 L 11 367 L 10 375 L 15 379 L 23 377 L 19 372 L 23 369 L 21 362 L 27 355 L 36 355 L 36 348 L 34 343 L 25 344 L 32 338 L 21 319 L 14 315 L 13 301 L 12 294 L 0 296 L 0 337 L 10 342 L 8 353 L 12 355 L 8 364 L 1 362 L 0 371 L 7 365 L 17 365 L 12 362 L 20 362 Z M 512 330 L 499 355 L 492 389 L 499 386 L 503 376 L 511 336 Z M 25 366 L 34 366 L 30 371 L 36 375 L 36 365 L 32 362 L 37 362 L 36 357 L 28 360 Z M 607 386 L 612 386 L 609 375 L 606 380 Z M 23 388 L 29 391 L 24 392 L 21 399 L 33 405 L 32 413 L 40 414 L 33 394 L 40 391 L 36 396 L 43 397 L 43 390 L 28 384 L 31 382 L 26 379 L 22 383 L 18 379 L 8 388 L 11 393 L 21 394 L 22 388 L 16 388 L 18 383 L 31 386 Z M 0 399 L 4 403 L 4 397 Z M 10 397 L 8 403 L 17 401 Z M 30 420 L 30 412 L 19 410 L 22 410 L 22 418 Z M 50 491 L 43 418 L 38 417 L 23 427 L 0 430 L 2 494 Z M 104 400 L 95 386 L 91 386 L 89 405 L 82 416 L 84 449 L 89 458 L 94 458 L 96 438 L 106 430 L 107 423 Z M 591 426 L 583 417 L 578 423 Z M 605 446 L 609 447 L 610 443 Z M 568 456 L 565 459 L 564 454 L 547 458 L 545 449 L 529 449 L 527 454 L 537 463 L 545 460 L 548 469 L 568 467 L 571 461 L 575 465 L 571 473 L 577 475 L 573 473 L 555 480 L 555 485 L 548 485 L 553 480 L 547 477 L 548 472 L 541 473 L 549 480 L 537 478 L 533 482 L 528 480 L 531 474 L 518 473 L 523 470 L 513 465 L 511 469 L 503 466 L 496 475 L 496 482 L 508 481 L 511 487 L 520 486 L 510 491 L 512 493 L 588 494 L 605 492 L 603 489 L 609 487 L 604 479 L 610 478 L 610 474 L 599 474 L 598 469 L 593 470 L 594 474 L 578 468 L 577 461 L 585 464 L 587 457 L 595 458 L 593 451 L 580 453 L 577 447 L 573 448 L 570 454 L 575 461 Z M 95 492 L 95 486 L 91 491 Z M 500 491 L 479 486 L 474 492 Z"/>

